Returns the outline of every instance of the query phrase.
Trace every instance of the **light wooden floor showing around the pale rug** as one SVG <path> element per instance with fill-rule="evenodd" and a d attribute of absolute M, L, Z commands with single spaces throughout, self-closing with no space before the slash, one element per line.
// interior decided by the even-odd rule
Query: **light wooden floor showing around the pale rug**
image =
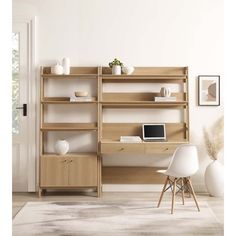
<path fill-rule="evenodd" d="M 101 200 L 147 200 L 157 202 L 160 193 L 143 193 L 143 192 L 106 192 L 103 193 L 101 198 L 92 196 L 93 193 L 76 193 L 76 192 L 57 192 L 57 193 L 47 193 L 42 198 L 39 198 L 35 193 L 14 193 L 13 194 L 13 204 L 12 204 L 12 217 L 14 218 L 20 209 L 27 202 L 37 202 L 37 201 L 101 201 Z M 181 197 L 177 197 L 177 200 L 181 201 Z M 198 201 L 206 201 L 215 213 L 218 220 L 224 223 L 224 199 L 210 197 L 208 194 L 197 194 Z M 162 201 L 171 200 L 171 194 L 165 193 Z M 188 201 L 193 201 L 193 199 L 188 199 Z M 171 204 L 171 202 L 170 202 Z"/>

